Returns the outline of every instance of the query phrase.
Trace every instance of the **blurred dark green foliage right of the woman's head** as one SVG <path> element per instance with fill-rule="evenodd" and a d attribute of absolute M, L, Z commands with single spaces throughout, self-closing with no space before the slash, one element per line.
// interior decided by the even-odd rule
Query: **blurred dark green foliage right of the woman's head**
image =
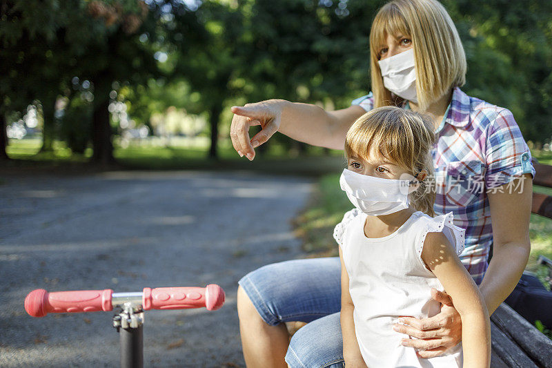
<path fill-rule="evenodd" d="M 444 0 L 468 58 L 466 93 L 509 108 L 525 139 L 552 137 L 552 2 Z"/>

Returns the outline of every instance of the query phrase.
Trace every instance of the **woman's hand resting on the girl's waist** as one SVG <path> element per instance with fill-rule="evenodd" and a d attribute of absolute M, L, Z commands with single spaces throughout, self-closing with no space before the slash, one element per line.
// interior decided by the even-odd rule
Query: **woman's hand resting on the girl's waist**
<path fill-rule="evenodd" d="M 431 289 L 431 298 L 441 303 L 441 312 L 431 318 L 401 317 L 406 325 L 393 329 L 419 340 L 403 340 L 406 347 L 417 349 L 421 358 L 440 356 L 462 340 L 462 319 L 453 306 L 451 297 L 437 289 Z"/>

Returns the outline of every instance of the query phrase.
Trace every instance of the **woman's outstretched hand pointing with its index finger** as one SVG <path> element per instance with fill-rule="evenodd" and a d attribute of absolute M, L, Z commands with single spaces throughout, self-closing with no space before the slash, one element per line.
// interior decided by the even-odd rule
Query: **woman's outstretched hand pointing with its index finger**
<path fill-rule="evenodd" d="M 264 144 L 277 132 L 284 102 L 286 101 L 270 99 L 231 108 L 234 117 L 230 126 L 230 137 L 234 149 L 241 157 L 246 156 L 249 160 L 253 160 L 255 158 L 255 148 Z M 249 128 L 255 125 L 260 125 L 262 130 L 252 139 L 249 139 Z"/>

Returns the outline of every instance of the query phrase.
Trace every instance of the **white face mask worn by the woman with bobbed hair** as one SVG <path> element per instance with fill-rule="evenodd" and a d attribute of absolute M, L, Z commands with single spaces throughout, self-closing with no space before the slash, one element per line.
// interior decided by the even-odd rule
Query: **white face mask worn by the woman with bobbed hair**
<path fill-rule="evenodd" d="M 377 61 L 377 64 L 380 64 L 385 88 L 408 101 L 418 103 L 413 48 Z"/>

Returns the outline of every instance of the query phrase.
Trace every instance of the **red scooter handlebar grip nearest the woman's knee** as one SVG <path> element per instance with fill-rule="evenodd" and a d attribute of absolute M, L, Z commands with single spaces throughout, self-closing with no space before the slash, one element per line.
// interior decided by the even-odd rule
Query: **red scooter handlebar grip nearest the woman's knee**
<path fill-rule="evenodd" d="M 142 298 L 144 311 L 201 307 L 213 311 L 224 304 L 224 291 L 215 284 L 209 284 L 207 287 L 146 287 Z"/>

